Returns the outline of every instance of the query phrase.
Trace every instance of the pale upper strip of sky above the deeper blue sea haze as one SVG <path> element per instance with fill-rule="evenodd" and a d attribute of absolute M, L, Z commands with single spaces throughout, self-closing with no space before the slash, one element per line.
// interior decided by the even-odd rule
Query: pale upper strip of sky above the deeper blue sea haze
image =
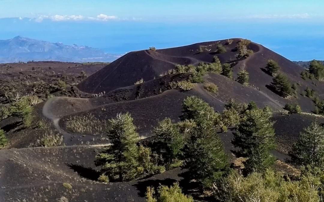
<path fill-rule="evenodd" d="M 99 14 L 145 21 L 323 17 L 321 0 L 0 0 L 0 18 Z"/>

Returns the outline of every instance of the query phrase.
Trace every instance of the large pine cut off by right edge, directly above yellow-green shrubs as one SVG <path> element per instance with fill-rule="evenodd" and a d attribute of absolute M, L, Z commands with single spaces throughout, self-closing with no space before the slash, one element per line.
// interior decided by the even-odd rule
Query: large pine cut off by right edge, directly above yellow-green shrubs
<path fill-rule="evenodd" d="M 324 166 L 324 128 L 318 122 L 312 122 L 300 133 L 291 156 L 300 165 Z"/>

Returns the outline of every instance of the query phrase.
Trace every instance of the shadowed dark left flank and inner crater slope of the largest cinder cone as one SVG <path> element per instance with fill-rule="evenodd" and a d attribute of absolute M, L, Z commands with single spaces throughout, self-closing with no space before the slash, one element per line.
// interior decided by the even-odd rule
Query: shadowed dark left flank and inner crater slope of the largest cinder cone
<path fill-rule="evenodd" d="M 235 39 L 239 41 L 239 39 Z M 224 41 L 220 43 L 225 44 Z M 198 53 L 200 45 L 206 45 L 211 51 Z M 193 44 L 179 48 L 168 48 L 157 51 L 141 50 L 130 52 L 125 56 L 115 60 L 109 65 L 90 76 L 87 80 L 78 85 L 84 92 L 96 93 L 110 91 L 116 88 L 133 85 L 140 79 L 152 80 L 169 69 L 174 69 L 176 64 L 198 64 L 199 62 L 212 62 L 216 41 Z M 235 52 L 231 50 L 236 47 L 236 43 L 226 46 L 227 52 L 217 54 L 222 62 L 235 59 Z"/>

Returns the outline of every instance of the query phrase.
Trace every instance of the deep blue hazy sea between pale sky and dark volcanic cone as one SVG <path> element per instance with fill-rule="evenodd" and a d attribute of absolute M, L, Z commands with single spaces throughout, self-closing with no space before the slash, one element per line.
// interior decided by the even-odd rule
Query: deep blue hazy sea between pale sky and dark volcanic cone
<path fill-rule="evenodd" d="M 226 38 L 249 38 L 290 60 L 324 60 L 323 23 L 219 21 L 186 23 L 52 22 L 0 19 L 0 39 L 24 37 L 85 45 L 106 53 L 170 48 Z"/>

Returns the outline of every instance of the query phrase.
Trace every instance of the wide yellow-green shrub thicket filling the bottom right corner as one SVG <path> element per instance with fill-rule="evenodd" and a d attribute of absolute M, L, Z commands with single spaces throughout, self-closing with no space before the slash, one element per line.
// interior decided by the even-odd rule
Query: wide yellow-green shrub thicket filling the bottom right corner
<path fill-rule="evenodd" d="M 283 177 L 282 173 L 266 169 L 244 176 L 240 171 L 233 170 L 226 178 L 225 193 L 220 193 L 226 201 L 320 201 L 318 186 L 322 187 L 320 176 L 305 173 L 294 180 Z M 223 200 L 222 200 L 223 201 Z"/>

